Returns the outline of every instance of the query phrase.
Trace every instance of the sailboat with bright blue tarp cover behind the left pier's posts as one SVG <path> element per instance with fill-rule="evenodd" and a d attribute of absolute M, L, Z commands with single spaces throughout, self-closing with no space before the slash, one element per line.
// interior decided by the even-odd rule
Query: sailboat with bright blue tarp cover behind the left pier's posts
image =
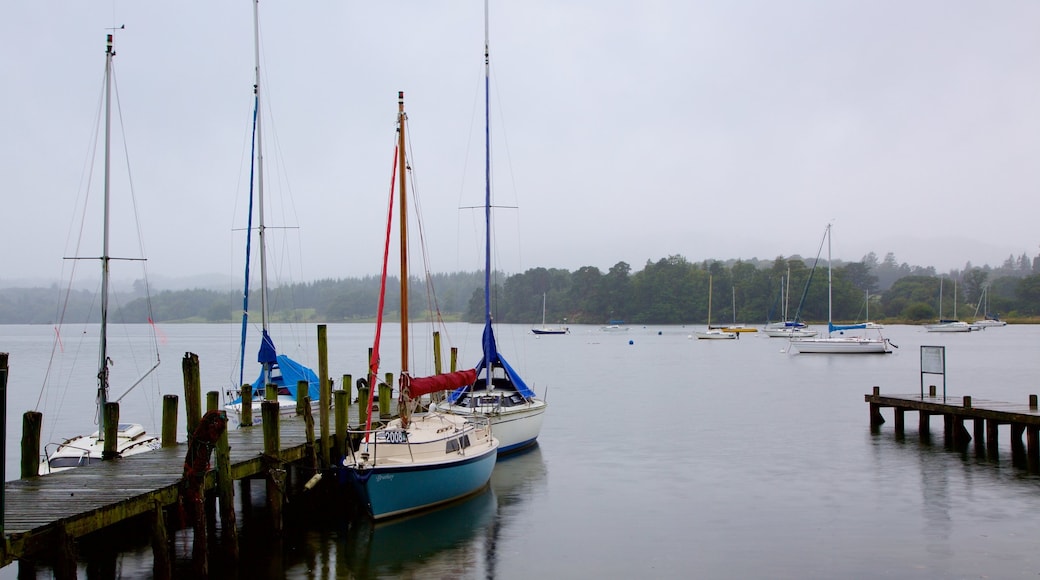
<path fill-rule="evenodd" d="M 267 297 L 267 248 L 265 241 L 266 230 L 264 227 L 264 189 L 263 189 L 263 139 L 261 133 L 261 108 L 260 108 L 260 16 L 259 0 L 253 2 L 253 33 L 254 33 L 254 56 L 256 58 L 256 76 L 253 85 L 253 149 L 254 165 L 251 167 L 255 173 L 250 173 L 250 213 L 249 226 L 245 229 L 249 236 L 245 244 L 245 282 L 242 292 L 242 325 L 241 344 L 238 366 L 238 385 L 244 387 L 245 369 L 245 338 L 249 329 L 250 315 L 250 246 L 253 236 L 253 186 L 256 184 L 257 219 L 258 227 L 255 230 L 260 242 L 260 349 L 257 352 L 257 362 L 260 363 L 260 373 L 256 380 L 250 384 L 253 391 L 252 416 L 253 424 L 257 425 L 262 420 L 262 404 L 268 385 L 274 385 L 278 392 L 279 415 L 282 417 L 292 417 L 296 414 L 296 400 L 300 396 L 310 397 L 311 407 L 317 411 L 320 398 L 320 383 L 317 374 L 307 366 L 293 361 L 285 354 L 279 354 L 275 346 L 275 341 L 270 338 L 270 313 L 268 312 L 269 300 Z M 298 392 L 301 381 L 306 383 L 307 390 Z M 231 401 L 225 405 L 228 416 L 241 423 L 242 397 L 238 389 L 229 391 Z"/>

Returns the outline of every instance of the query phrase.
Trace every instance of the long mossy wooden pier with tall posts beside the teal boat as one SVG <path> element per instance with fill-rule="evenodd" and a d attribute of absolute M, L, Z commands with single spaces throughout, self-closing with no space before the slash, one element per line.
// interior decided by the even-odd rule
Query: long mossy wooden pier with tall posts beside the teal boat
<path fill-rule="evenodd" d="M 319 325 L 319 354 L 324 351 L 323 329 Z M 435 335 L 435 343 L 438 338 Z M 6 390 L 6 358 L 0 353 L 0 391 Z M 361 424 L 361 407 L 367 404 L 368 397 L 378 395 L 381 420 L 391 418 L 396 412 L 390 387 L 392 373 L 386 373 L 386 380 L 372 389 L 368 388 L 367 379 L 359 380 L 356 400 L 365 401 L 359 403 L 350 399 L 350 375 L 343 375 L 341 389 L 334 391 L 322 357 L 319 366 L 322 389 L 318 420 L 312 417 L 308 399 L 297 404 L 296 417 L 292 418 L 280 418 L 278 402 L 266 400 L 262 403 L 262 424 L 226 428 L 226 414 L 218 411 L 218 393 L 206 394 L 208 412 L 203 414 L 199 360 L 190 352 L 185 353 L 182 368 L 187 443 L 178 443 L 176 437 L 167 439 L 176 434 L 178 412 L 177 397 L 166 395 L 161 449 L 45 476 L 36 475 L 40 414 L 26 413 L 23 426 L 34 424 L 37 432 L 28 437 L 23 432 L 22 478 L 6 481 L 0 495 L 3 515 L 0 566 L 18 561 L 19 578 L 32 578 L 36 564 L 42 563 L 53 566 L 55 578 L 75 578 L 77 541 L 133 523 L 150 529 L 154 578 L 173 577 L 174 543 L 168 530 L 180 529 L 179 526 L 193 529 L 191 576 L 207 577 L 207 536 L 214 531 L 217 502 L 222 548 L 237 558 L 234 481 L 242 482 L 243 500 L 251 480 L 264 482 L 274 533 L 280 533 L 287 496 L 306 493 L 320 480 L 315 476 L 328 472 L 342 456 L 346 445 L 350 445 L 347 431 L 352 425 Z M 275 390 L 268 387 L 268 397 L 274 399 L 274 395 Z M 116 408 L 116 418 L 118 414 Z M 32 415 L 36 417 L 29 417 Z M 200 443 L 198 428 L 200 424 L 205 426 L 207 419 L 219 427 L 219 437 Z M 27 440 L 30 440 L 28 445 Z M 196 463 L 201 458 L 203 467 L 189 468 L 192 463 L 189 457 L 194 457 Z M 328 490 L 334 482 L 326 479 L 323 485 Z M 185 513 L 189 521 L 185 521 Z"/>

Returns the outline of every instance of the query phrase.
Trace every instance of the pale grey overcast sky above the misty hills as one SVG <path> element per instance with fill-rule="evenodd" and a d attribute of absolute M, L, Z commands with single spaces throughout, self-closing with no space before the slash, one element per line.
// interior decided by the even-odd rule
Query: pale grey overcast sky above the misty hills
<path fill-rule="evenodd" d="M 430 268 L 483 267 L 483 214 L 466 209 L 484 194 L 483 9 L 261 2 L 274 275 L 379 272 L 398 90 Z M 88 230 L 69 240 L 121 25 L 113 208 L 129 205 L 125 150 L 151 275 L 240 275 L 252 11 L 4 4 L 0 286 L 100 253 Z M 515 207 L 495 213 L 496 265 L 811 257 L 828 222 L 844 261 L 1036 256 L 1038 22 L 1033 0 L 492 0 L 494 197 Z M 131 225 L 113 209 L 113 256 L 140 254 Z"/>

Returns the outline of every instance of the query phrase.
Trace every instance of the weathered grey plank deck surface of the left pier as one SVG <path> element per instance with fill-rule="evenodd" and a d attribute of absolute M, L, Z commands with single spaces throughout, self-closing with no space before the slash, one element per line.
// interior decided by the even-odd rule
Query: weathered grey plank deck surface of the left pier
<path fill-rule="evenodd" d="M 315 425 L 315 449 L 320 449 Z M 309 458 L 306 423 L 279 421 L 281 463 Z M 228 431 L 230 472 L 240 480 L 261 475 L 271 460 L 263 453 L 262 426 Z M 178 502 L 187 444 L 111 462 L 5 483 L 4 549 L 0 565 L 53 553 L 85 534 Z M 211 457 L 212 459 L 212 457 Z M 215 485 L 211 469 L 204 489 Z"/>

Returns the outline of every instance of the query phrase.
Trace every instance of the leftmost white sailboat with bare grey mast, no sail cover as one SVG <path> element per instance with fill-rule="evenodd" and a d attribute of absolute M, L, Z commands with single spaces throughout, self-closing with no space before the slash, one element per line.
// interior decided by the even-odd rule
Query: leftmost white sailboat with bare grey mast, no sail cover
<path fill-rule="evenodd" d="M 44 458 L 40 465 L 40 473 L 56 473 L 79 466 L 89 465 L 107 458 L 105 452 L 105 430 L 106 417 L 105 407 L 109 402 L 109 367 L 111 359 L 108 352 L 108 284 L 109 284 L 109 262 L 120 260 L 109 254 L 109 197 L 110 197 L 110 174 L 111 174 L 111 111 L 112 111 L 112 57 L 115 52 L 112 50 L 112 35 L 108 34 L 105 48 L 105 175 L 104 175 L 104 218 L 103 218 L 103 241 L 101 254 L 101 328 L 100 328 L 100 353 L 98 357 L 98 430 L 84 436 L 77 436 L 64 440 L 58 444 L 53 452 L 48 453 L 45 446 Z M 131 259 L 134 260 L 134 259 Z M 151 319 L 150 319 L 151 320 Z M 130 389 L 139 385 L 146 376 L 154 372 L 159 367 L 158 351 L 155 353 L 155 364 L 148 369 L 144 376 L 137 379 Z M 125 396 L 125 394 L 124 394 Z M 122 398 L 122 397 L 120 397 Z M 115 399 L 118 402 L 119 399 Z M 158 449 L 160 441 L 157 437 L 149 436 L 145 428 L 138 423 L 120 422 L 116 426 L 115 455 L 126 457 Z"/>

